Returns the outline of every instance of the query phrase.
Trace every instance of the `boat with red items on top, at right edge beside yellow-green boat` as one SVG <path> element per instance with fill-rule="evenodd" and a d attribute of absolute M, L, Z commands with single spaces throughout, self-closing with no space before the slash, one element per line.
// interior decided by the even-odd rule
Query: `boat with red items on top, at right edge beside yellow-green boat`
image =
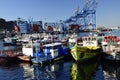
<path fill-rule="evenodd" d="M 105 36 L 102 40 L 103 58 L 110 62 L 120 61 L 120 37 Z"/>

